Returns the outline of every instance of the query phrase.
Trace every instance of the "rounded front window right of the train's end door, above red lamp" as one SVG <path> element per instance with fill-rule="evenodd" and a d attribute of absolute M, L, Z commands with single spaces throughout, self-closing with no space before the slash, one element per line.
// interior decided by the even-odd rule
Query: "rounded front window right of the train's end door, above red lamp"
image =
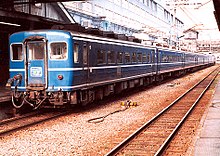
<path fill-rule="evenodd" d="M 67 45 L 64 42 L 56 42 L 50 44 L 51 59 L 66 59 L 67 58 Z"/>

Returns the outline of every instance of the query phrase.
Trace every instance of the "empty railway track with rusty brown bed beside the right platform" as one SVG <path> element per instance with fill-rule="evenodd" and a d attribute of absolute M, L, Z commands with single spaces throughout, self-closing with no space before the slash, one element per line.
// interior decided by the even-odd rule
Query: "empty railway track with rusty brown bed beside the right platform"
<path fill-rule="evenodd" d="M 162 155 L 214 81 L 215 70 L 106 154 Z"/>

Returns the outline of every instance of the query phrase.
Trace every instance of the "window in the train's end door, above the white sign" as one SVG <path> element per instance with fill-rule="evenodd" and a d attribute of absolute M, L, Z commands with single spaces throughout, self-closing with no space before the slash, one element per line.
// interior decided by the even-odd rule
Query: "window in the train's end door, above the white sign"
<path fill-rule="evenodd" d="M 28 59 L 29 60 L 41 60 L 44 59 L 45 42 L 33 41 L 27 43 Z"/>

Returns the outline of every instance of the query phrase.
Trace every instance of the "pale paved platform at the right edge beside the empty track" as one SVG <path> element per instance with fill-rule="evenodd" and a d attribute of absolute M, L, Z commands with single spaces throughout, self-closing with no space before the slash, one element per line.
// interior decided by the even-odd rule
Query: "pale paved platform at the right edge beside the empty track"
<path fill-rule="evenodd" d="M 220 81 L 197 137 L 195 156 L 220 156 Z"/>

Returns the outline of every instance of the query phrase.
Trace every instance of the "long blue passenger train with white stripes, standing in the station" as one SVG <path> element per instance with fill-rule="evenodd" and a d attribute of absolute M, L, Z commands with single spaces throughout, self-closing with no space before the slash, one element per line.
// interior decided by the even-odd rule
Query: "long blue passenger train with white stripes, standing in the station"
<path fill-rule="evenodd" d="M 87 105 L 215 64 L 212 55 L 68 30 L 17 32 L 9 48 L 7 86 L 16 109 Z"/>

